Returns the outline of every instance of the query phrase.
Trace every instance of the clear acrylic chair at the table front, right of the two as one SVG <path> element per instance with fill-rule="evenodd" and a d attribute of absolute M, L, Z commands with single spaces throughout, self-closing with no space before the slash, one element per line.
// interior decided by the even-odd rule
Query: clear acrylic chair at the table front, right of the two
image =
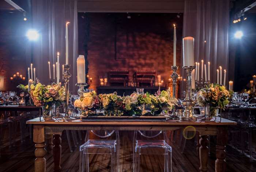
<path fill-rule="evenodd" d="M 137 140 L 137 133 L 150 140 Z M 164 140 L 152 140 L 163 133 Z M 137 130 L 133 135 L 133 172 L 140 171 L 140 155 L 164 155 L 164 171 L 172 172 L 172 147 L 165 131 Z"/>

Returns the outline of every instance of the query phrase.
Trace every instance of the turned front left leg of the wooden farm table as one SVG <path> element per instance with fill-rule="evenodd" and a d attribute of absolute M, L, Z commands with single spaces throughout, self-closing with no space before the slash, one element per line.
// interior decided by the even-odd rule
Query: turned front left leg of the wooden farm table
<path fill-rule="evenodd" d="M 45 131 L 43 125 L 34 125 L 33 141 L 35 142 L 35 172 L 46 171 Z"/>

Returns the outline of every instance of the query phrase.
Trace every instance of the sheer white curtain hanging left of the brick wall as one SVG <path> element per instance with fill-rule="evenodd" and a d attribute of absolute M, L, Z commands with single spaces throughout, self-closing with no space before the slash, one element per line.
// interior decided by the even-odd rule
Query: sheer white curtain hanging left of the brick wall
<path fill-rule="evenodd" d="M 75 91 L 76 58 L 78 57 L 78 11 L 77 0 L 33 0 L 33 28 L 38 30 L 40 38 L 33 43 L 33 64 L 36 67 L 38 79 L 49 84 L 48 61 L 51 65 L 57 62 L 57 52 L 60 52 L 60 80 L 62 79 L 62 64 L 65 64 L 65 23 L 68 26 L 69 64 L 71 64 L 70 90 Z M 55 67 L 56 74 L 56 67 Z M 56 78 L 56 77 L 55 77 Z"/>

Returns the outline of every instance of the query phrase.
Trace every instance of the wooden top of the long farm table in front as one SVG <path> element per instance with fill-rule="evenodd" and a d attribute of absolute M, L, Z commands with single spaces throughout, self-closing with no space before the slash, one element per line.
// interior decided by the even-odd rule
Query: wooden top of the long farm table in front
<path fill-rule="evenodd" d="M 27 124 L 37 124 L 37 125 L 169 125 L 169 126 L 175 126 L 175 125 L 236 125 L 237 122 L 227 120 L 225 118 L 221 119 L 215 117 L 212 118 L 211 121 L 203 121 L 203 120 L 197 120 L 197 121 L 179 121 L 179 120 L 167 120 L 167 121 L 155 121 L 155 122 L 138 122 L 138 121 L 82 121 L 80 119 L 78 120 L 72 120 L 72 121 L 44 121 L 43 118 L 37 117 L 32 120 L 29 120 L 26 122 Z"/>

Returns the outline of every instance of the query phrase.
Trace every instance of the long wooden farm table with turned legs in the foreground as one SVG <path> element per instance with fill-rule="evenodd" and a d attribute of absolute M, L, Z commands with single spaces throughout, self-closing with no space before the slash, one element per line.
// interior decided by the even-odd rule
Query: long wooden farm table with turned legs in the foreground
<path fill-rule="evenodd" d="M 50 121 L 45 122 L 40 118 L 34 118 L 27 121 L 27 124 L 34 125 L 33 141 L 35 142 L 35 172 L 46 171 L 46 155 L 45 140 L 52 138 L 49 148 L 53 150 L 54 171 L 61 169 L 61 133 L 63 130 L 177 130 L 187 126 L 193 126 L 200 133 L 200 141 L 197 145 L 200 155 L 200 171 L 206 172 L 208 161 L 208 139 L 207 135 L 217 136 L 215 171 L 224 172 L 226 170 L 226 152 L 227 144 L 227 126 L 236 125 L 234 121 L 222 118 L 221 122 L 217 121 L 177 121 L 169 120 L 164 122 L 82 122 L 74 121 Z M 192 128 L 192 127 L 191 127 Z M 46 137 L 47 136 L 47 137 Z M 53 143 L 52 143 L 53 142 Z M 54 146 L 52 146 L 54 144 Z"/>

